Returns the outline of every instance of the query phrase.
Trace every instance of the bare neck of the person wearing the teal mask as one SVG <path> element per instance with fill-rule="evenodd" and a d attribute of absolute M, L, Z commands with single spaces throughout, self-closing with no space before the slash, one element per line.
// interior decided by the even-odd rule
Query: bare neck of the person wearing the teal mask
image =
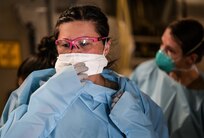
<path fill-rule="evenodd" d="M 182 85 L 188 86 L 199 77 L 199 72 L 197 68 L 194 68 L 188 71 L 173 71 L 168 75 Z"/>

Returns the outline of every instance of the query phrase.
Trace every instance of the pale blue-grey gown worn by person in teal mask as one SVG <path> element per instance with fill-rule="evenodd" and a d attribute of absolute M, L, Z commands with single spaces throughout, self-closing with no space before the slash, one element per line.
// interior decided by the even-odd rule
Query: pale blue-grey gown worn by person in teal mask
<path fill-rule="evenodd" d="M 204 90 L 180 85 L 154 60 L 138 66 L 130 78 L 162 108 L 171 138 L 204 137 Z"/>

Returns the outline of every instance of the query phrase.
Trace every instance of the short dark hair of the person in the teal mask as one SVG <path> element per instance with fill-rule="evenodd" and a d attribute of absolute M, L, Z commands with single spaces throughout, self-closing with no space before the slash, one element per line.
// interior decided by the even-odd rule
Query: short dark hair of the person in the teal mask
<path fill-rule="evenodd" d="M 172 22 L 168 28 L 175 41 L 181 45 L 184 55 L 198 55 L 196 63 L 202 60 L 204 54 L 204 30 L 201 23 L 195 19 L 182 19 Z"/>

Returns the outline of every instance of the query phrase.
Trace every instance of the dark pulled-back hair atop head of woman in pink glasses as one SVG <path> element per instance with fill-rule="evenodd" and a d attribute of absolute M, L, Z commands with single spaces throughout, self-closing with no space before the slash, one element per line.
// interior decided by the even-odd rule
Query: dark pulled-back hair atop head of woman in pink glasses
<path fill-rule="evenodd" d="M 106 15 L 96 6 L 76 6 L 66 9 L 57 20 L 55 26 L 55 38 L 59 35 L 59 26 L 63 23 L 72 21 L 92 21 L 95 24 L 96 32 L 106 37 L 109 35 L 109 25 Z"/>

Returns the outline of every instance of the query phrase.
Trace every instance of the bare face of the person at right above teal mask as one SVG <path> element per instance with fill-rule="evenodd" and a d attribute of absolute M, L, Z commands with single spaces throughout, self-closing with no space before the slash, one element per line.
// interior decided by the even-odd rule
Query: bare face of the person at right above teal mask
<path fill-rule="evenodd" d="M 177 68 L 187 68 L 186 57 L 183 56 L 181 46 L 172 37 L 171 29 L 169 28 L 162 35 L 160 49 L 174 60 Z"/>

